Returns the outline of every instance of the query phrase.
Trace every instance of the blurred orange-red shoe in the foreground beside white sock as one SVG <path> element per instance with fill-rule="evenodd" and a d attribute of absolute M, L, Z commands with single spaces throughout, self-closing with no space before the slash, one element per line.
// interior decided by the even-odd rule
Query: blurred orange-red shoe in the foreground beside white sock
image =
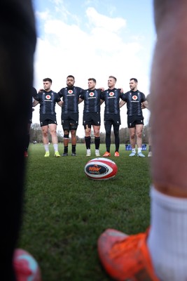
<path fill-rule="evenodd" d="M 119 281 L 159 281 L 146 244 L 148 233 L 126 235 L 107 229 L 100 235 L 97 247 L 106 272 Z"/>

